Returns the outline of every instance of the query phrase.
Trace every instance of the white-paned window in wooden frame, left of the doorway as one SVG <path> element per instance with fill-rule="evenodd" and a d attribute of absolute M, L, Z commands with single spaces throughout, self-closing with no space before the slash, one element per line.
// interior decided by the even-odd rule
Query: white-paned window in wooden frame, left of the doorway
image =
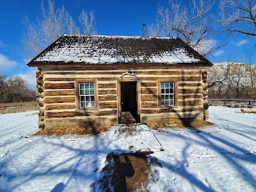
<path fill-rule="evenodd" d="M 77 108 L 97 108 L 96 80 L 76 80 Z"/>

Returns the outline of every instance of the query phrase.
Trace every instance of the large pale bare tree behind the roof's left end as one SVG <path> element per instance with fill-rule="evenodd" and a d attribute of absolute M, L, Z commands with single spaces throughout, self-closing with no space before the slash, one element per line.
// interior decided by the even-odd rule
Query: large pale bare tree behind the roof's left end
<path fill-rule="evenodd" d="M 84 23 L 84 28 L 90 29 L 88 33 L 92 33 L 95 26 L 93 12 L 90 12 L 90 18 L 93 22 Z M 22 36 L 24 55 L 30 59 L 51 45 L 61 35 L 80 34 L 80 29 L 70 13 L 65 10 L 64 6 L 56 9 L 51 0 L 48 0 L 47 6 L 42 0 L 40 17 L 37 18 L 36 25 L 32 24 L 28 17 L 24 17 L 22 21 L 26 27 Z"/>

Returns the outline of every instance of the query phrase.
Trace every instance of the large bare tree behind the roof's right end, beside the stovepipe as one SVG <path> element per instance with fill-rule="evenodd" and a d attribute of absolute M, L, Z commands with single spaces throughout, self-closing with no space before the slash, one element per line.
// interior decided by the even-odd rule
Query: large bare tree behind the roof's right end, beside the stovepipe
<path fill-rule="evenodd" d="M 177 0 L 169 3 L 170 8 L 157 9 L 158 22 L 168 36 L 181 38 L 204 56 L 223 46 L 214 45 L 216 42 L 209 38 L 212 22 L 208 16 L 214 1 L 192 0 L 189 6 Z"/>

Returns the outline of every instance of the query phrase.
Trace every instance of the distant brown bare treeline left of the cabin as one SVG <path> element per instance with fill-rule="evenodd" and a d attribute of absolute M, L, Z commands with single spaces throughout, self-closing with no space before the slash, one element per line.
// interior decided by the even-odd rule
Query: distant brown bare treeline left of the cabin
<path fill-rule="evenodd" d="M 36 90 L 21 76 L 0 74 L 0 102 L 27 102 L 36 100 Z"/>

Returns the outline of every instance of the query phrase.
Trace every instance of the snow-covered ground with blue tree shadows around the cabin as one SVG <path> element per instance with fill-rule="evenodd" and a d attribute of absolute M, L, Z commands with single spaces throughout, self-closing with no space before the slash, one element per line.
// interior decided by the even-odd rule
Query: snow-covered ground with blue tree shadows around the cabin
<path fill-rule="evenodd" d="M 205 128 L 114 126 L 99 136 L 32 136 L 37 111 L 0 115 L 0 191 L 90 191 L 110 152 L 136 150 L 153 150 L 162 165 L 152 166 L 150 191 L 255 191 L 256 115 L 209 113 L 214 125 Z"/>

